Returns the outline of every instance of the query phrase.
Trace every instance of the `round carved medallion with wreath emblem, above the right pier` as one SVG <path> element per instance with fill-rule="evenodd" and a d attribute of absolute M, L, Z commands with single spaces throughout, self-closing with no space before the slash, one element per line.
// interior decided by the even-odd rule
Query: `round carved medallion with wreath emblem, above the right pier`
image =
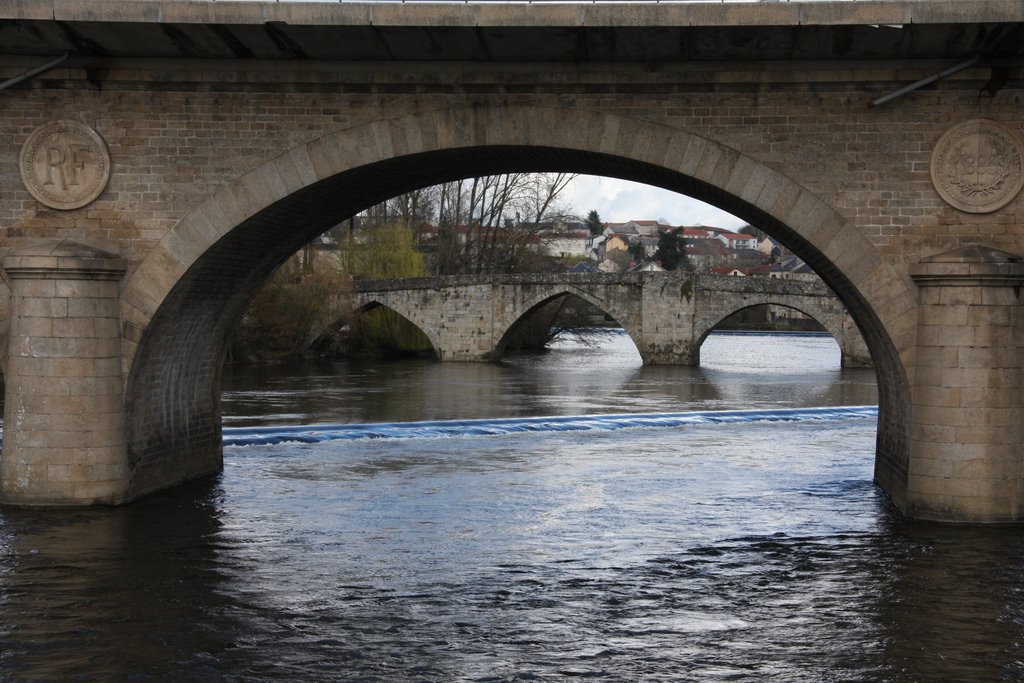
<path fill-rule="evenodd" d="M 995 121 L 959 123 L 932 152 L 932 183 L 950 206 L 990 213 L 1010 204 L 1024 187 L 1021 143 Z"/>

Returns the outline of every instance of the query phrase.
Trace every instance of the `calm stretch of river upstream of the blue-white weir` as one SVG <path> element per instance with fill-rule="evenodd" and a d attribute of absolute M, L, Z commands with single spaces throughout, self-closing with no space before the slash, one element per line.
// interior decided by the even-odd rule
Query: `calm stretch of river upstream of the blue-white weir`
<path fill-rule="evenodd" d="M 406 422 L 868 405 L 874 372 L 840 368 L 820 335 L 713 334 L 701 365 L 648 366 L 622 330 L 501 364 L 350 361 L 225 372 L 226 425 Z"/>

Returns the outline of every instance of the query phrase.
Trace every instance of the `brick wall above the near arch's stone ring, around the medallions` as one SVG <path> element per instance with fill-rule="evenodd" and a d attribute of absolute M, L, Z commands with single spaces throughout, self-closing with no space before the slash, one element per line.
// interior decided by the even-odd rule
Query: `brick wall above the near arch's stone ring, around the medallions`
<path fill-rule="evenodd" d="M 950 124 L 987 117 L 1018 131 L 1024 126 L 1019 89 L 989 95 L 983 89 L 988 70 L 968 70 L 870 109 L 878 91 L 897 80 L 894 67 L 805 66 L 799 71 L 802 82 L 771 65 L 715 73 L 711 83 L 705 82 L 711 75 L 699 72 L 689 75 L 689 83 L 685 75 L 652 73 L 643 79 L 644 92 L 636 91 L 635 74 L 625 68 L 590 74 L 587 87 L 567 84 L 563 92 L 549 94 L 536 83 L 555 79 L 558 68 L 550 65 L 535 73 L 519 68 L 512 76 L 475 66 L 452 73 L 421 68 L 403 74 L 401 87 L 388 67 L 373 74 L 342 70 L 328 83 L 324 74 L 276 65 L 256 73 L 227 66 L 194 71 L 145 66 L 106 68 L 101 74 L 59 70 L 68 78 L 3 93 L 0 133 L 8 150 L 0 157 L 0 240 L 6 249 L 34 239 L 87 237 L 106 241 L 137 263 L 201 198 L 278 155 L 381 118 L 477 104 L 599 111 L 707 136 L 794 178 L 897 262 L 915 262 L 957 240 L 981 237 L 1010 251 L 1024 247 L 1013 229 L 1022 221 L 1020 201 L 995 214 L 964 214 L 938 197 L 929 178 L 931 150 Z M 919 73 L 930 68 L 921 66 Z M 373 92 L 351 92 L 346 77 Z M 515 83 L 508 84 L 510 78 Z M 617 95 L 587 92 L 612 83 Z M 323 92 L 331 85 L 346 91 Z M 56 119 L 94 128 L 115 160 L 106 191 L 76 212 L 42 207 L 18 174 L 22 144 L 38 126 Z"/>

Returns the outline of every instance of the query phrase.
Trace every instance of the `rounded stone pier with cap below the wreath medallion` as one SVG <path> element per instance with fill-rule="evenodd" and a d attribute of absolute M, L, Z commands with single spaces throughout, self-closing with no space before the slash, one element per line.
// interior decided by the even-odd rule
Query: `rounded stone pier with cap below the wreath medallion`
<path fill-rule="evenodd" d="M 920 288 L 907 512 L 1016 521 L 1024 502 L 1024 259 L 971 245 L 911 268 Z"/>

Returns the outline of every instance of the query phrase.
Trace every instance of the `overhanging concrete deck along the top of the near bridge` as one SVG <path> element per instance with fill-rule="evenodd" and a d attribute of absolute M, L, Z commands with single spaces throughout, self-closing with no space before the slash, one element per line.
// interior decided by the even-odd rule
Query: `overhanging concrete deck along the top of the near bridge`
<path fill-rule="evenodd" d="M 1015 0 L 259 2 L 8 0 L 5 54 L 701 62 L 1019 55 Z M 570 85 L 564 83 L 563 85 Z"/>

